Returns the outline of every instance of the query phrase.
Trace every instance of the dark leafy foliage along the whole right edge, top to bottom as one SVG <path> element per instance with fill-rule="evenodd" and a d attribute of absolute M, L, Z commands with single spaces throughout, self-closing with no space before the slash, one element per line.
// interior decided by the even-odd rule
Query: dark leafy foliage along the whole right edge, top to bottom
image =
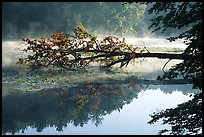
<path fill-rule="evenodd" d="M 182 76 L 193 80 L 193 88 L 202 90 L 202 2 L 156 2 L 149 14 L 155 14 L 149 27 L 154 28 L 153 32 L 162 30 L 163 33 L 168 28 L 189 27 L 189 30 L 181 31 L 178 36 L 168 38 L 170 41 L 184 39 L 184 43 L 188 45 L 183 52 L 183 62 L 170 68 L 158 79 Z M 149 124 L 163 119 L 163 124 L 171 125 L 170 130 L 161 130 L 160 134 L 170 132 L 172 135 L 202 135 L 202 91 L 192 100 L 176 108 L 153 113 L 151 117 Z"/>

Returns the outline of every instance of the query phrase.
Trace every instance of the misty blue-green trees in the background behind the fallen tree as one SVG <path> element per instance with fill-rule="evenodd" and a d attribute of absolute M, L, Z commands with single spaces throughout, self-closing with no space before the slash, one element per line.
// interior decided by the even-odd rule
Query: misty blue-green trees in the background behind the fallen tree
<path fill-rule="evenodd" d="M 117 33 L 120 35 L 124 30 L 133 31 L 130 28 L 135 29 L 135 26 L 139 28 L 140 26 L 136 24 L 141 21 L 142 15 L 140 14 L 145 10 L 145 5 L 134 4 L 134 6 L 123 6 L 123 3 L 4 3 L 2 7 L 4 11 L 2 14 L 2 36 L 3 39 L 13 40 L 15 37 L 18 40 L 25 36 L 36 38 L 39 37 L 39 34 L 43 37 L 48 37 L 50 33 L 55 31 L 72 33 L 71 28 L 75 28 L 80 22 L 83 22 L 91 33 L 103 36 L 104 31 L 112 34 L 115 33 L 115 28 L 117 28 Z M 134 13 L 137 11 L 138 13 Z M 28 15 L 29 17 L 25 18 Z M 119 17 L 117 17 L 118 15 Z M 119 26 L 119 20 L 122 21 L 121 26 Z M 122 27 L 123 30 L 120 30 L 119 27 Z"/>

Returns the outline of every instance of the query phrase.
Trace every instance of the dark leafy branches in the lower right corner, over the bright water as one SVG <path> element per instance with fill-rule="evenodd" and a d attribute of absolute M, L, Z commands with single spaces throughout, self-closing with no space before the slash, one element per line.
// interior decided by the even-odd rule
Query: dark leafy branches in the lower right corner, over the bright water
<path fill-rule="evenodd" d="M 170 131 L 171 135 L 202 135 L 202 92 L 174 109 L 153 113 L 151 117 L 149 124 L 163 119 L 163 124 L 171 125 L 171 130 L 161 130 L 160 134 Z"/>

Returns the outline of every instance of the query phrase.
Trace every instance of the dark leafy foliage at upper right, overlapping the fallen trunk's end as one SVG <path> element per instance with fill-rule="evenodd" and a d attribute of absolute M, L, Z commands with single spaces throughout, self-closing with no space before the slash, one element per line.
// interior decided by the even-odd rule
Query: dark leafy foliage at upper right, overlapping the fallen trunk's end
<path fill-rule="evenodd" d="M 188 30 L 181 31 L 178 36 L 168 38 L 170 41 L 183 39 L 188 47 L 184 50 L 183 62 L 172 67 L 162 78 L 182 76 L 184 79 L 200 81 L 202 79 L 202 2 L 156 2 L 148 12 L 155 14 L 149 27 L 154 28 L 153 32 L 189 27 Z"/>

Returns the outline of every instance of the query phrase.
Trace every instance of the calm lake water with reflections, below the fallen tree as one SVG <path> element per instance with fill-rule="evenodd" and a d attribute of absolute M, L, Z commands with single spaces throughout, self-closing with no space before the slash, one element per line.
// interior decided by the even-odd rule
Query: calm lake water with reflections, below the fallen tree
<path fill-rule="evenodd" d="M 30 72 L 13 65 L 14 53 L 2 54 L 2 134 L 156 135 L 169 125 L 149 125 L 149 115 L 199 92 L 191 84 L 155 81 L 164 59 L 137 59 L 122 69 Z"/>

